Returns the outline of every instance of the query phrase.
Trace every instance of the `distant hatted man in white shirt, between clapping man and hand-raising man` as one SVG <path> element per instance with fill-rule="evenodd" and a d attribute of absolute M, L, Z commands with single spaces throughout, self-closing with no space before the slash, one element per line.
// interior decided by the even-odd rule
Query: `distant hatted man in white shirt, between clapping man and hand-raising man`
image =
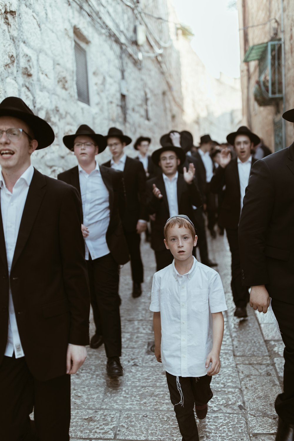
<path fill-rule="evenodd" d="M 208 230 L 212 238 L 216 237 L 216 232 L 214 226 L 216 224 L 216 216 L 217 216 L 217 203 L 216 203 L 216 195 L 210 191 L 210 181 L 213 176 L 214 166 L 213 161 L 210 157 L 210 153 L 212 151 L 213 141 L 210 138 L 210 135 L 203 135 L 200 138 L 200 146 L 194 156 L 200 161 L 200 179 L 201 179 L 201 187 L 204 188 L 204 206 L 207 212 L 207 220 L 208 220 Z"/>

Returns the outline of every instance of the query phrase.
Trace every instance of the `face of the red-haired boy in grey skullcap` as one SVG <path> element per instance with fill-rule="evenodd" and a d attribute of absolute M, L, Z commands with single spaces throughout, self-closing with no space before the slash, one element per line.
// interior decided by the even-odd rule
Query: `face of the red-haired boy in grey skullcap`
<path fill-rule="evenodd" d="M 179 225 L 175 225 L 168 228 L 167 239 L 164 239 L 164 243 L 175 259 L 186 260 L 192 255 L 193 247 L 197 243 L 197 236 L 193 237 L 188 228 L 180 228 Z"/>

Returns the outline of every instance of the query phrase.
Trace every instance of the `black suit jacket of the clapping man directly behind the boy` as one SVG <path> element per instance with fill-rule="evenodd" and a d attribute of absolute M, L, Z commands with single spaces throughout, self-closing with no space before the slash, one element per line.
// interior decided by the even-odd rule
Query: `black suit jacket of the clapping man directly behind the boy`
<path fill-rule="evenodd" d="M 158 199 L 153 194 L 153 184 L 159 188 L 163 198 Z M 158 176 L 147 181 L 147 210 L 149 214 L 155 213 L 155 221 L 151 221 L 151 248 L 155 251 L 165 250 L 164 245 L 164 225 L 170 217 L 165 191 L 164 179 Z M 199 207 L 202 205 L 202 198 L 194 181 L 188 185 L 181 173 L 177 181 L 177 195 L 179 214 L 186 214 L 191 221 L 194 220 L 192 205 Z"/>

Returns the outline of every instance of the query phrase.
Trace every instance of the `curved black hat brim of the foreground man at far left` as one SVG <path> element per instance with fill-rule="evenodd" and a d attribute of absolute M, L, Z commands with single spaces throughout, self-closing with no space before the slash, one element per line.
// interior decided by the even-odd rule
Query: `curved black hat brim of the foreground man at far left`
<path fill-rule="evenodd" d="M 45 120 L 39 118 L 39 116 L 5 108 L 0 109 L 0 116 L 14 116 L 26 123 L 33 131 L 34 139 L 38 142 L 36 150 L 51 146 L 55 139 L 52 127 Z"/>

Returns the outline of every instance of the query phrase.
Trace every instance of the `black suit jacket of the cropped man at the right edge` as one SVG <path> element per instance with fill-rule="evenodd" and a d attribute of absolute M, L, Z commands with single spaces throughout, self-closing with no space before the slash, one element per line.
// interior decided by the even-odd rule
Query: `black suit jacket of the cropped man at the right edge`
<path fill-rule="evenodd" d="M 257 161 L 239 223 L 242 283 L 294 304 L 294 143 Z"/>

